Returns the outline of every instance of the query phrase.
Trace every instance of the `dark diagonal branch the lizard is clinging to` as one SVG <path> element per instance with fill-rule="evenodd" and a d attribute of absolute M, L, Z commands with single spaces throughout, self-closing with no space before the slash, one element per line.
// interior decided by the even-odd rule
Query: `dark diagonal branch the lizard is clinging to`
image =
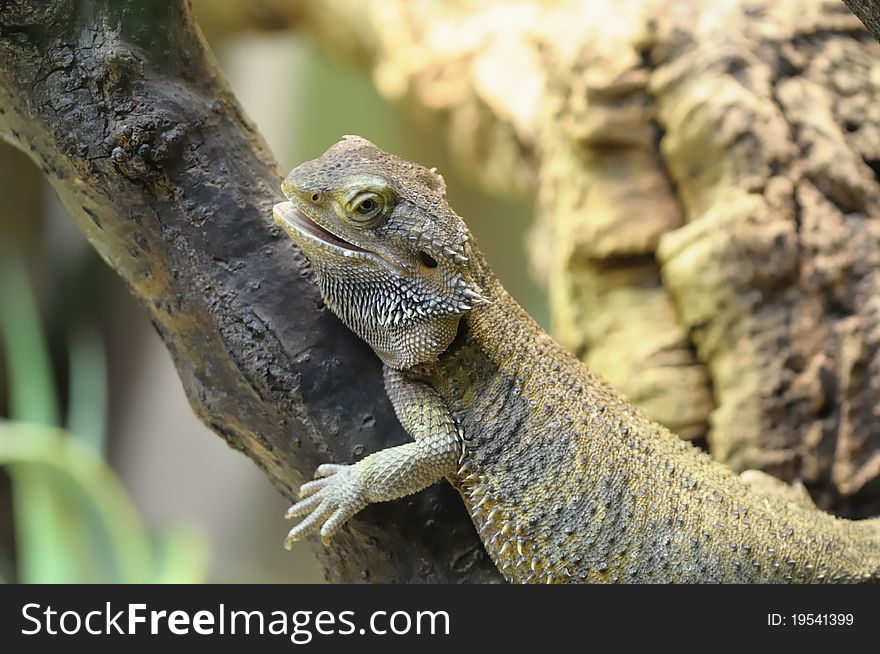
<path fill-rule="evenodd" d="M 281 492 L 406 440 L 378 360 L 272 225 L 281 172 L 186 0 L 0 3 L 0 134 L 144 303 L 196 413 Z M 447 485 L 318 553 L 334 581 L 500 579 Z"/>

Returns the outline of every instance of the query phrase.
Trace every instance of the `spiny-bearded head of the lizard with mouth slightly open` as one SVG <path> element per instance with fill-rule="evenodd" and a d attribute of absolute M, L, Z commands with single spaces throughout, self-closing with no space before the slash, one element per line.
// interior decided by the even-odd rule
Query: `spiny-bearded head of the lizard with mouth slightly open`
<path fill-rule="evenodd" d="M 278 223 L 312 264 L 325 304 L 388 365 L 437 358 L 485 302 L 464 221 L 429 170 L 347 136 L 291 171 Z"/>

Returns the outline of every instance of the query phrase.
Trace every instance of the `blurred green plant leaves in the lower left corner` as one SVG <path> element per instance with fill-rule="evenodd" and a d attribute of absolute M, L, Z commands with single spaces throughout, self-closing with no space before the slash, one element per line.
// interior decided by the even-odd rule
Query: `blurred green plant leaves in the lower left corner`
<path fill-rule="evenodd" d="M 204 543 L 180 529 L 152 538 L 103 457 L 106 366 L 96 328 L 68 335 L 65 429 L 37 302 L 16 254 L 0 257 L 0 302 L 9 396 L 0 466 L 12 480 L 17 581 L 203 580 Z"/>

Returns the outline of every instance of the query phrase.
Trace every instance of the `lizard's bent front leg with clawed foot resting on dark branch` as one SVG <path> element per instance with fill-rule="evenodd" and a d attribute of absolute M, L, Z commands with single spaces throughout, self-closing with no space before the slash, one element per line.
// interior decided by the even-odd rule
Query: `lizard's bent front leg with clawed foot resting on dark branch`
<path fill-rule="evenodd" d="M 288 518 L 307 516 L 290 530 L 285 542 L 288 549 L 318 529 L 326 542 L 368 504 L 410 495 L 456 472 L 461 438 L 437 392 L 388 366 L 385 392 L 415 441 L 381 450 L 354 465 L 318 466 L 317 479 L 300 487 L 300 501 L 287 512 Z"/>

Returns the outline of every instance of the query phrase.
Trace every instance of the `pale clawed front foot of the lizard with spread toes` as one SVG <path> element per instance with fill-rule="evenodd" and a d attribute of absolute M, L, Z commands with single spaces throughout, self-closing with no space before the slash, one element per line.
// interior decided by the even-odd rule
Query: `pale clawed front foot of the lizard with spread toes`
<path fill-rule="evenodd" d="M 287 549 L 318 529 L 321 530 L 321 540 L 325 544 L 330 542 L 339 527 L 368 504 L 364 497 L 364 475 L 357 465 L 325 463 L 318 466 L 315 477 L 314 481 L 300 486 L 299 502 L 284 516 L 306 516 L 287 534 L 284 541 Z"/>

